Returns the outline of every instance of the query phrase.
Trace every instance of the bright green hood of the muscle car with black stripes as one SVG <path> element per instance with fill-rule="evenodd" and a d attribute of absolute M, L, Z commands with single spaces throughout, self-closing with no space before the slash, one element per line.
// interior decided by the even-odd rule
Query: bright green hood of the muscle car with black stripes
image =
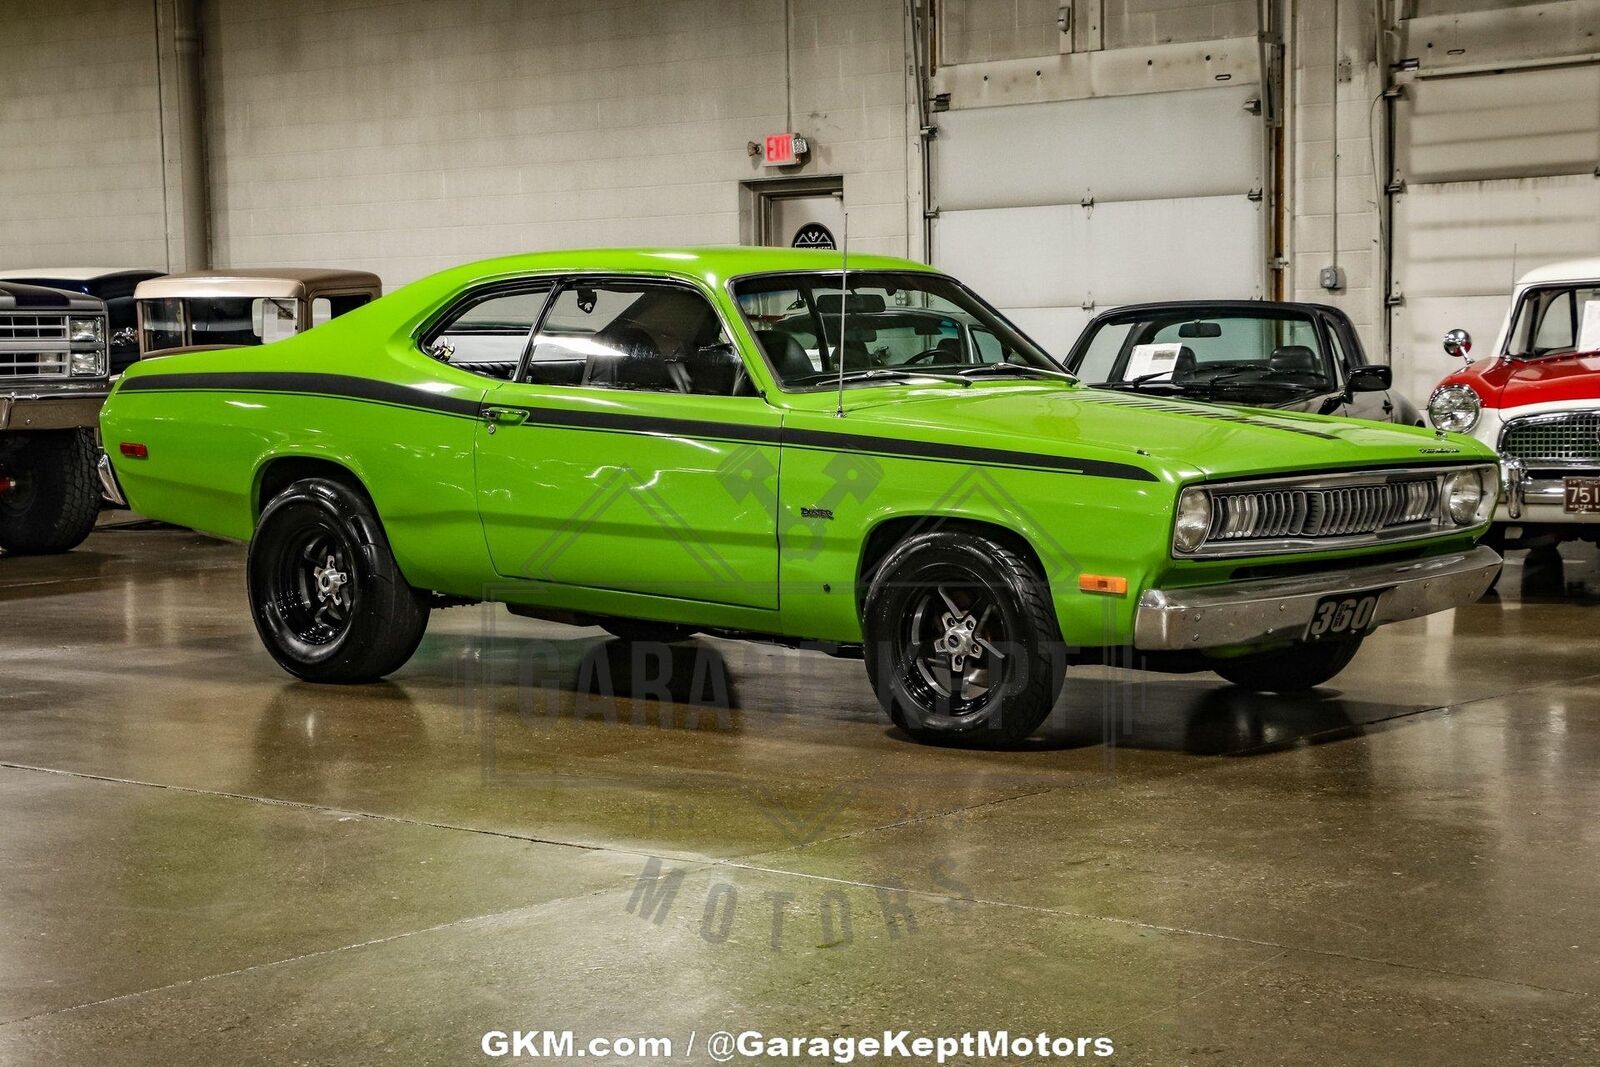
<path fill-rule="evenodd" d="M 854 434 L 870 422 L 894 437 L 1104 459 L 1179 478 L 1494 458 L 1459 434 L 1053 384 L 858 389 L 845 408 Z"/>

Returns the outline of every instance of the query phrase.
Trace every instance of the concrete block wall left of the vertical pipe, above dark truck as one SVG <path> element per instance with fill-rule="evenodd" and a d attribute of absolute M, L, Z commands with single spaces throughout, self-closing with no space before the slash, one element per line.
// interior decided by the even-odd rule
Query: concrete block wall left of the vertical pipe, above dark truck
<path fill-rule="evenodd" d="M 0 5 L 0 266 L 166 266 L 155 13 Z"/>

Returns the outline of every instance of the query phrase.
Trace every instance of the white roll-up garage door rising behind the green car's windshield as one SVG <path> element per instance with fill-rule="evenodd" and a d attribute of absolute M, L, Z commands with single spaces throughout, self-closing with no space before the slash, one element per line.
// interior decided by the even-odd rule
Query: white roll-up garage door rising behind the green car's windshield
<path fill-rule="evenodd" d="M 1064 354 L 1107 307 L 1262 296 L 1251 85 L 950 110 L 933 261 Z"/>

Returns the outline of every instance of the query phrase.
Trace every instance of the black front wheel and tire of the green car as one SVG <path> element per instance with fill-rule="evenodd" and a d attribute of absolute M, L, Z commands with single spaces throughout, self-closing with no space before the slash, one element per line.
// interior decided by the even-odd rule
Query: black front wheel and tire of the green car
<path fill-rule="evenodd" d="M 1066 678 L 1043 576 L 979 534 L 894 547 L 867 590 L 862 630 L 878 702 L 925 744 L 1016 744 L 1050 717 Z"/>

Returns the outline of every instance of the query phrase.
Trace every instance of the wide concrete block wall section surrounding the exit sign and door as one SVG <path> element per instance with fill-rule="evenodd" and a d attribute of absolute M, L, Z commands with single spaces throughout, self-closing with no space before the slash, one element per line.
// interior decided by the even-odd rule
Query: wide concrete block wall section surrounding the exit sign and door
<path fill-rule="evenodd" d="M 216 0 L 219 266 L 397 285 L 467 259 L 736 243 L 746 146 L 798 130 L 851 243 L 904 254 L 898 0 Z"/>

